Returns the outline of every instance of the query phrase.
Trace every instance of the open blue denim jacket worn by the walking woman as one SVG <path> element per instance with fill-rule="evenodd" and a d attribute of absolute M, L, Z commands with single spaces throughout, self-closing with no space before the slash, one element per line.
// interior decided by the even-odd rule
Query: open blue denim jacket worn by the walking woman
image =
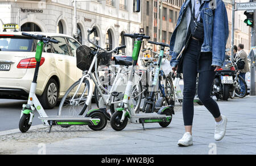
<path fill-rule="evenodd" d="M 170 55 L 172 60 L 170 63 L 172 67 L 179 64 L 180 58 L 177 59 L 177 56 L 188 39 L 187 32 L 191 19 L 190 2 L 191 0 L 187 0 L 181 6 L 176 28 L 171 36 Z M 222 0 L 216 0 L 216 9 L 211 9 L 209 3 L 210 0 L 202 0 L 200 6 L 200 16 L 204 24 L 204 42 L 201 52 L 212 52 L 212 65 L 222 67 L 225 61 L 226 41 L 229 36 L 228 15 Z"/>

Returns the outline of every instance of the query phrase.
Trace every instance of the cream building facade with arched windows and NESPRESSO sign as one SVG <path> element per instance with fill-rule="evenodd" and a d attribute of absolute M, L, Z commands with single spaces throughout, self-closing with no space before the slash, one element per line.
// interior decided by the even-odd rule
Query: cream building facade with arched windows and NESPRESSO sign
<path fill-rule="evenodd" d="M 79 42 L 87 45 L 87 30 L 95 27 L 97 32 L 90 38 L 101 47 L 113 49 L 126 44 L 125 51 L 131 54 L 132 40 L 123 34 L 139 32 L 141 28 L 141 14 L 135 13 L 135 5 L 135 0 L 77 2 Z M 75 34 L 74 3 L 70 0 L 0 0 L 0 15 L 0 31 L 2 24 L 16 23 L 20 15 L 21 31 Z"/>

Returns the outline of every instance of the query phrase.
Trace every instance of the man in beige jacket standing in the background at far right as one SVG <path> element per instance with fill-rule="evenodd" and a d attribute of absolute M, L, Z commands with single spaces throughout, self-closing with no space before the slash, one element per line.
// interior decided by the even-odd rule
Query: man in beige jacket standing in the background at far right
<path fill-rule="evenodd" d="M 242 59 L 245 62 L 245 67 L 243 69 L 240 69 L 240 76 L 245 80 L 245 74 L 249 72 L 249 64 L 247 60 L 247 53 L 243 50 L 244 45 L 243 44 L 238 44 L 238 58 Z M 240 95 L 245 94 L 245 86 L 243 86 L 243 81 L 240 80 L 240 85 L 241 85 L 241 93 Z"/>

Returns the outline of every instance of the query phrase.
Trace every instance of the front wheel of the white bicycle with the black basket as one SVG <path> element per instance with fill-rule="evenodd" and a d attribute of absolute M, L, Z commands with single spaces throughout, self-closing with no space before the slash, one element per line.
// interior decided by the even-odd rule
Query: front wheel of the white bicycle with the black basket
<path fill-rule="evenodd" d="M 58 114 L 60 116 L 75 117 L 85 112 L 87 105 L 85 104 L 89 93 L 89 81 L 84 80 L 79 88 L 80 80 L 76 81 L 65 93 L 61 99 Z M 79 88 L 79 89 L 78 89 Z M 77 93 L 76 90 L 78 89 Z M 73 99 L 72 99 L 73 98 Z"/>

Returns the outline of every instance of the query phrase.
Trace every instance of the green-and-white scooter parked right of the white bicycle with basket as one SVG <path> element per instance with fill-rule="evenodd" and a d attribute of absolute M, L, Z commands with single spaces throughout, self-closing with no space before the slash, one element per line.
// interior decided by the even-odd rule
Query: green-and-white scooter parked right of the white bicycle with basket
<path fill-rule="evenodd" d="M 137 39 L 134 43 L 133 49 L 133 67 L 131 68 L 131 74 L 129 81 L 127 82 L 123 101 L 119 104 L 119 108 L 115 109 L 115 113 L 110 119 L 112 128 L 116 131 L 121 131 L 126 127 L 127 122 L 141 123 L 144 128 L 144 123 L 159 123 L 162 127 L 167 127 L 172 121 L 172 115 L 174 114 L 174 106 L 163 106 L 159 109 L 158 113 L 135 113 L 134 103 L 131 99 L 131 90 L 134 86 L 133 78 L 135 73 L 135 66 L 137 65 L 139 52 L 141 51 L 141 45 L 143 39 L 150 39 L 150 36 L 144 34 L 125 34 L 124 36 Z M 163 52 L 162 52 L 163 53 Z M 154 82 L 158 82 L 158 75 L 156 74 Z M 155 85 L 154 85 L 155 86 Z"/>

